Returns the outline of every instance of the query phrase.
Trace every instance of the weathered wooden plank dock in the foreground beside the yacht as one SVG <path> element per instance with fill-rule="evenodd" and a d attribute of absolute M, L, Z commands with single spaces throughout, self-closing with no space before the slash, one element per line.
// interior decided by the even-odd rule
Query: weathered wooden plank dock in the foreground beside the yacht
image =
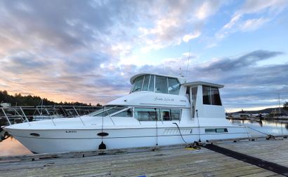
<path fill-rule="evenodd" d="M 217 146 L 288 167 L 288 140 Z M 98 155 L 106 153 L 106 155 Z M 110 155 L 112 154 L 112 155 Z M 32 161 L 34 160 L 34 161 Z M 288 171 L 287 171 L 288 172 Z M 0 176 L 281 176 L 202 147 L 185 146 L 0 157 Z"/>

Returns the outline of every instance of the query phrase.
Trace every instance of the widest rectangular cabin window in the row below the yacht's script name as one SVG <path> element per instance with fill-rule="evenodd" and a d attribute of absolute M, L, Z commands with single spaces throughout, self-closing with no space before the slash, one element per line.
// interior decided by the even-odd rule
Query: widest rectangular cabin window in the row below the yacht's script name
<path fill-rule="evenodd" d="M 135 108 L 135 118 L 140 121 L 159 120 L 159 108 Z"/>

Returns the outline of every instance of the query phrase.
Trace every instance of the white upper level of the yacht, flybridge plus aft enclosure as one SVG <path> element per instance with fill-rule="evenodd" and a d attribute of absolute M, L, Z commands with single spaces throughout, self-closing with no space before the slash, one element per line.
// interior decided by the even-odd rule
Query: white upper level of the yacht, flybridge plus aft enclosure
<path fill-rule="evenodd" d="M 202 81 L 186 83 L 183 77 L 140 73 L 130 79 L 130 94 L 107 105 L 190 108 L 191 117 L 225 118 L 219 88 Z"/>

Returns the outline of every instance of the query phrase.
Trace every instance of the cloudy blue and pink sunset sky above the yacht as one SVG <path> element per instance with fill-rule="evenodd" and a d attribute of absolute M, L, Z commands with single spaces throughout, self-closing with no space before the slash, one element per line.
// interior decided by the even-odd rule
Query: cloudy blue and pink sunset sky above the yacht
<path fill-rule="evenodd" d="M 0 1 L 0 90 L 106 104 L 151 72 L 225 85 L 226 111 L 288 101 L 288 1 Z"/>

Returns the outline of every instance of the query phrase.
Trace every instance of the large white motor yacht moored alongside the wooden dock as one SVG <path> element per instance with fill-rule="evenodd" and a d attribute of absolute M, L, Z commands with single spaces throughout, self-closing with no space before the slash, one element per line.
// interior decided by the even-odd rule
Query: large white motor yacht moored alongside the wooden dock
<path fill-rule="evenodd" d="M 249 136 L 231 125 L 218 92 L 223 85 L 140 73 L 131 92 L 78 118 L 4 127 L 33 153 L 169 146 Z"/>

